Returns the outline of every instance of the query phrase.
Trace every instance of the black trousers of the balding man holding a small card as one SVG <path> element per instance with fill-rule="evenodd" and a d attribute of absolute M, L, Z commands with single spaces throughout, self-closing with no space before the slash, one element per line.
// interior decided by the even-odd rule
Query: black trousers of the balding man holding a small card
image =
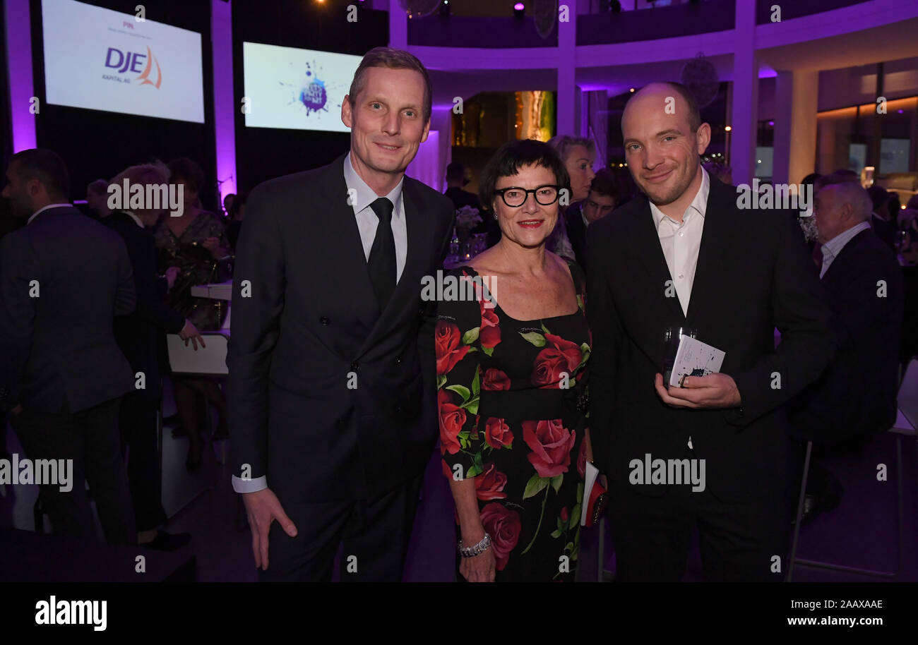
<path fill-rule="evenodd" d="M 691 484 L 669 485 L 659 497 L 627 484 L 611 489 L 617 581 L 680 581 L 696 526 L 706 580 L 783 580 L 790 521 L 783 489 L 745 502 L 720 500 L 707 488 L 695 493 Z"/>

